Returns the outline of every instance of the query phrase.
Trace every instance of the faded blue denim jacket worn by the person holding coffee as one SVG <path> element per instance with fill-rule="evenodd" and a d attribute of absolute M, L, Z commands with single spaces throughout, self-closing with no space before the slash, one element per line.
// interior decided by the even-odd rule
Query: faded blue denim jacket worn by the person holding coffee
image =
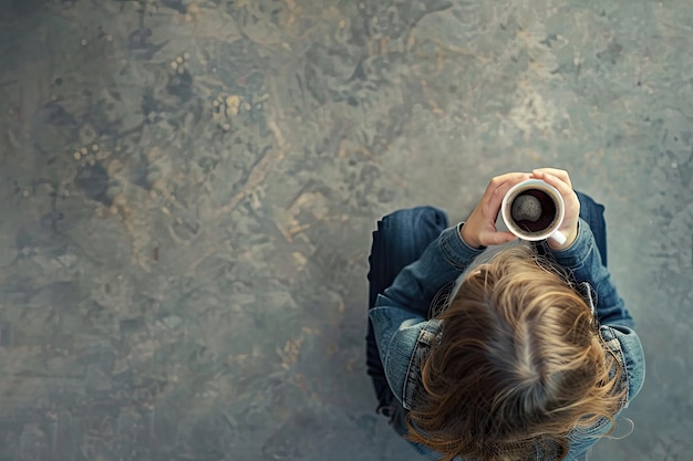
<path fill-rule="evenodd" d="M 464 242 L 459 233 L 462 226 L 444 230 L 422 256 L 406 266 L 392 286 L 379 295 L 369 313 L 387 383 L 406 410 L 412 409 L 416 394 L 423 391 L 420 359 L 439 334 L 438 321 L 428 318 L 431 303 L 484 252 L 484 249 L 473 249 Z M 572 272 L 578 283 L 594 289 L 597 303 L 593 308 L 602 338 L 625 371 L 621 385 L 628 389 L 623 408 L 628 407 L 644 381 L 644 355 L 633 331 L 634 322 L 611 283 L 609 271 L 601 264 L 589 224 L 580 219 L 578 237 L 569 248 L 561 251 L 551 250 L 547 244 L 544 248 Z M 585 459 L 590 447 L 599 440 L 598 436 L 609 429 L 609 421 L 603 418 L 591 428 L 573 429 L 569 433 L 570 452 L 566 460 Z M 431 450 L 426 453 L 435 454 Z"/>

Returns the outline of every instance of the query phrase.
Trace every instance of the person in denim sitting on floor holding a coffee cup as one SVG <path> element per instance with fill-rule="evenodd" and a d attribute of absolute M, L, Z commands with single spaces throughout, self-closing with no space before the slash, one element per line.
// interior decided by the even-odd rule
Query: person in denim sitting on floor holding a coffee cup
<path fill-rule="evenodd" d="M 563 244 L 496 229 L 504 195 L 529 178 L 560 191 Z M 493 178 L 457 226 L 433 207 L 379 221 L 366 367 L 376 411 L 420 453 L 586 460 L 613 437 L 644 356 L 607 269 L 603 211 L 567 171 L 540 168 Z"/>

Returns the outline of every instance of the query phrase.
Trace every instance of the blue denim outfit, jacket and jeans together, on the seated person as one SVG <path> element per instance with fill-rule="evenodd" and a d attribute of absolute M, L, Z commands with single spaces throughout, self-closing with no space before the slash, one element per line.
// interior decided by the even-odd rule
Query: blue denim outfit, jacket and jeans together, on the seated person
<path fill-rule="evenodd" d="M 624 367 L 623 385 L 630 402 L 644 380 L 642 347 L 633 331 L 634 322 L 604 264 L 603 207 L 577 193 L 580 222 L 576 241 L 562 251 L 551 250 L 546 242 L 538 244 L 537 250 L 568 268 L 577 282 L 594 289 L 601 334 Z M 462 240 L 461 226 L 447 228 L 443 211 L 418 207 L 389 214 L 373 233 L 366 364 L 379 410 L 391 417 L 400 434 L 406 433 L 404 415 L 416 392 L 422 391 L 416 357 L 426 353 L 437 334 L 437 321 L 428 318 L 430 304 L 484 252 Z M 589 430 L 571 432 L 567 459 L 586 459 L 589 448 L 599 440 L 596 436 L 608 429 L 608 421 L 600 421 Z M 427 457 L 436 454 L 423 446 L 413 446 Z"/>

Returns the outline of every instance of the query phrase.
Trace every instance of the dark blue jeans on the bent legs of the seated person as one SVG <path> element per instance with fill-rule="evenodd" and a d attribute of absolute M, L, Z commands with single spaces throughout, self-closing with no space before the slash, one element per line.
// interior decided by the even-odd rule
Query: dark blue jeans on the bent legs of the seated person
<path fill-rule="evenodd" d="M 607 224 L 604 207 L 589 196 L 576 191 L 580 200 L 580 218 L 588 222 L 602 264 L 607 265 Z M 375 304 L 377 294 L 383 293 L 406 265 L 416 261 L 423 251 L 438 234 L 448 227 L 447 216 L 434 207 L 416 207 L 397 210 L 377 222 L 373 232 L 371 254 L 369 255 L 369 308 Z M 377 399 L 376 412 L 390 417 L 390 422 L 397 433 L 407 432 L 404 423 L 405 409 L 393 397 L 375 344 L 373 326 L 369 319 L 366 336 L 366 370 L 373 381 Z M 422 452 L 418 446 L 414 448 Z"/>

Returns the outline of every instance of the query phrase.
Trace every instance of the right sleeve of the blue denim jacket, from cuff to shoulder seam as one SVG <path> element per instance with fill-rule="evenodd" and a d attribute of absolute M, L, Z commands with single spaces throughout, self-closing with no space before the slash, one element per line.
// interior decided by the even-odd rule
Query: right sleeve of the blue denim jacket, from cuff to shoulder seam
<path fill-rule="evenodd" d="M 576 281 L 589 282 L 597 292 L 597 318 L 602 325 L 623 325 L 629 328 L 635 327 L 635 322 L 619 296 L 609 270 L 601 263 L 599 249 L 594 242 L 594 235 L 587 221 L 580 218 L 578 237 L 576 241 L 565 250 L 552 250 L 546 245 L 556 261 L 569 269 Z"/>

